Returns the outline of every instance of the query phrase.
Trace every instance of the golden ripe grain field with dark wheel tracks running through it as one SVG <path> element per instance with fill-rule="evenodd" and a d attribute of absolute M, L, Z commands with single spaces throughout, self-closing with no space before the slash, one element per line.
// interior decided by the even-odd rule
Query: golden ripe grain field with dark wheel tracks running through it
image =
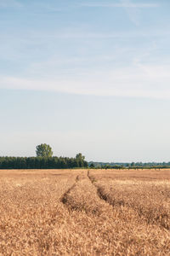
<path fill-rule="evenodd" d="M 170 255 L 170 170 L 0 170 L 0 255 Z"/>

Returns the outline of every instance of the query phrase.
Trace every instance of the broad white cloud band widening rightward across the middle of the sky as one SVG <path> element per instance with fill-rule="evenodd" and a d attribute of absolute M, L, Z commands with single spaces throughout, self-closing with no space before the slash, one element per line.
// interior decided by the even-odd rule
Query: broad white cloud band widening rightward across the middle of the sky
<path fill-rule="evenodd" d="M 63 93 L 170 99 L 169 66 L 139 65 L 106 72 L 54 79 L 1 77 L 0 88 L 13 90 L 49 90 Z M 163 85 L 162 85 L 163 84 Z"/>

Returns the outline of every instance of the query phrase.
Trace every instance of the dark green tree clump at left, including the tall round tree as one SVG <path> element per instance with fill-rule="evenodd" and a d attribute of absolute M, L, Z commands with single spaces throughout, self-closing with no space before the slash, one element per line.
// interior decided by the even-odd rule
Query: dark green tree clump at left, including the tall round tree
<path fill-rule="evenodd" d="M 53 156 L 47 144 L 38 145 L 37 157 L 0 157 L 0 169 L 67 169 L 87 168 L 88 162 L 79 153 L 75 158 Z"/>

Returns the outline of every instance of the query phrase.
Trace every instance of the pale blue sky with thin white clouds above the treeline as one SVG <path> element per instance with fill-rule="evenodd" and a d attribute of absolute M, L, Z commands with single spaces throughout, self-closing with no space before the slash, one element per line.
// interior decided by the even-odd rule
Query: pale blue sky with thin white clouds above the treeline
<path fill-rule="evenodd" d="M 169 0 L 0 0 L 0 155 L 170 161 Z"/>

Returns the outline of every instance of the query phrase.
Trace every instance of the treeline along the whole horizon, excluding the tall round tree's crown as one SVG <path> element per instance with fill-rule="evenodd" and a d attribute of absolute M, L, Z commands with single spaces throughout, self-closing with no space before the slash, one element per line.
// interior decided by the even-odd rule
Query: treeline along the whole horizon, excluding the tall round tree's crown
<path fill-rule="evenodd" d="M 82 154 L 75 158 L 69 157 L 0 157 L 0 169 L 71 169 L 71 168 L 95 168 L 95 169 L 142 169 L 142 168 L 170 168 L 170 162 L 132 162 L 132 163 L 108 163 L 84 160 Z"/>

